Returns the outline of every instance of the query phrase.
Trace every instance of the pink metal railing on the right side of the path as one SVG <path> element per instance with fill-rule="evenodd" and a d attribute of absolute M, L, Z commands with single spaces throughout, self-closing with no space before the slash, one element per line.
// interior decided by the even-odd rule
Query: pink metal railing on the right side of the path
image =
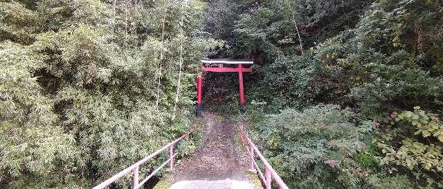
<path fill-rule="evenodd" d="M 251 160 L 251 167 L 250 170 L 257 170 L 258 175 L 260 175 L 260 179 L 262 179 L 264 185 L 266 186 L 266 189 L 271 189 L 271 181 L 272 179 L 275 180 L 275 183 L 282 188 L 282 189 L 289 189 L 286 184 L 283 182 L 282 178 L 278 176 L 277 172 L 271 167 L 271 165 L 266 161 L 266 159 L 263 157 L 260 150 L 258 150 L 257 146 L 249 139 L 248 135 L 244 133 L 243 125 L 240 124 L 239 126 L 239 134 L 241 135 L 240 138 L 242 139 L 243 143 L 248 143 L 249 149 L 246 147 L 246 150 L 249 152 L 249 159 Z M 255 161 L 255 154 L 257 154 L 257 157 L 262 160 L 264 167 L 265 167 L 265 175 L 263 176 L 262 170 L 260 170 L 260 167 L 257 165 L 257 162 Z"/>

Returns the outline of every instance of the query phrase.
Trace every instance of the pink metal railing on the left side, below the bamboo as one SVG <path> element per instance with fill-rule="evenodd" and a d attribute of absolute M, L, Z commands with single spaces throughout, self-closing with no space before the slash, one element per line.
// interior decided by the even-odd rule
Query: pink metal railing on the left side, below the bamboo
<path fill-rule="evenodd" d="M 163 146 L 163 148 L 160 148 L 159 150 L 156 150 L 156 152 L 152 153 L 151 155 L 148 155 L 147 157 L 143 158 L 142 160 L 138 161 L 137 163 L 134 163 L 134 165 L 129 166 L 129 168 L 125 168 L 125 170 L 122 170 L 121 172 L 118 172 L 116 175 L 114 175 L 113 177 L 107 179 L 106 181 L 103 181 L 102 183 L 100 183 L 98 186 L 94 187 L 93 189 L 102 189 L 102 188 L 106 188 L 107 186 L 109 186 L 111 183 L 117 181 L 118 179 L 120 179 L 121 177 L 124 177 L 125 175 L 129 174 L 129 172 L 133 172 L 132 174 L 132 178 L 133 178 L 133 188 L 139 188 L 141 186 L 143 186 L 143 184 L 150 178 L 154 177 L 154 175 L 156 174 L 156 172 L 158 172 L 159 170 L 161 170 L 161 168 L 163 168 L 164 166 L 166 166 L 166 164 L 169 163 L 170 168 L 172 169 L 174 166 L 174 157 L 177 156 L 178 153 L 174 154 L 174 145 L 175 143 L 181 141 L 181 139 L 184 138 L 188 138 L 190 133 L 183 135 L 181 137 L 179 137 L 178 139 L 175 139 L 174 141 L 168 143 L 166 146 Z M 169 152 L 170 152 L 170 158 L 168 160 L 166 160 L 163 164 L 161 164 L 161 166 L 159 166 L 159 168 L 156 168 L 156 170 L 154 170 L 149 176 L 147 176 L 145 179 L 143 179 L 143 181 L 141 181 L 140 183 L 138 182 L 138 167 L 141 166 L 141 164 L 146 163 L 146 161 L 152 159 L 153 157 L 155 157 L 156 155 L 159 155 L 161 152 L 163 152 L 164 150 L 169 148 Z"/>

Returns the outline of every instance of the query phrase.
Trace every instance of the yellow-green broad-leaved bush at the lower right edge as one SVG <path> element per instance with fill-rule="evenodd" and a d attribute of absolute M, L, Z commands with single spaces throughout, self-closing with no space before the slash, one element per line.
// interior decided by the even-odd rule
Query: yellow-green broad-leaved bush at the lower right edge
<path fill-rule="evenodd" d="M 382 166 L 414 175 L 418 186 L 443 187 L 443 124 L 438 115 L 415 107 L 413 112 L 393 112 L 389 123 L 379 127 L 373 143 L 382 152 Z"/>

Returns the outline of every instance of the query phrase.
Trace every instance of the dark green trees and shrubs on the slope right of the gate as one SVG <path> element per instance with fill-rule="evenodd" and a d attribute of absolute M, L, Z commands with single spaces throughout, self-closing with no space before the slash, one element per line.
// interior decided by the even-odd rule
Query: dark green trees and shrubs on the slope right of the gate
<path fill-rule="evenodd" d="M 227 44 L 219 55 L 255 61 L 246 81 L 251 134 L 268 139 L 262 148 L 291 186 L 443 187 L 442 1 L 219 0 L 210 9 L 208 31 Z M 228 21 L 213 18 L 225 15 Z M 216 82 L 236 86 L 231 80 Z M 336 153 L 325 140 L 355 141 L 342 136 L 347 128 L 337 127 L 334 137 L 321 131 L 299 136 L 323 121 L 315 111 L 325 118 L 338 111 L 320 103 L 354 112 L 352 120 L 335 115 L 329 121 L 351 122 L 355 134 L 373 124 L 359 138 L 367 148 L 343 158 L 352 159 L 345 163 L 352 168 L 325 163 Z M 325 159 L 297 171 L 304 160 L 293 155 L 312 154 Z"/>

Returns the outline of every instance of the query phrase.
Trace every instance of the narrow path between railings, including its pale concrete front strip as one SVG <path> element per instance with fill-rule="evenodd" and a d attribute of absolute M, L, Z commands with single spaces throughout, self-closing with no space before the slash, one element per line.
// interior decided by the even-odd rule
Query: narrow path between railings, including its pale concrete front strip
<path fill-rule="evenodd" d="M 166 176 L 168 183 L 172 183 L 170 188 L 262 188 L 260 182 L 253 183 L 255 175 L 247 172 L 244 155 L 237 153 L 241 150 L 236 150 L 234 123 L 215 113 L 206 113 L 204 117 L 206 128 L 203 143 Z"/>

